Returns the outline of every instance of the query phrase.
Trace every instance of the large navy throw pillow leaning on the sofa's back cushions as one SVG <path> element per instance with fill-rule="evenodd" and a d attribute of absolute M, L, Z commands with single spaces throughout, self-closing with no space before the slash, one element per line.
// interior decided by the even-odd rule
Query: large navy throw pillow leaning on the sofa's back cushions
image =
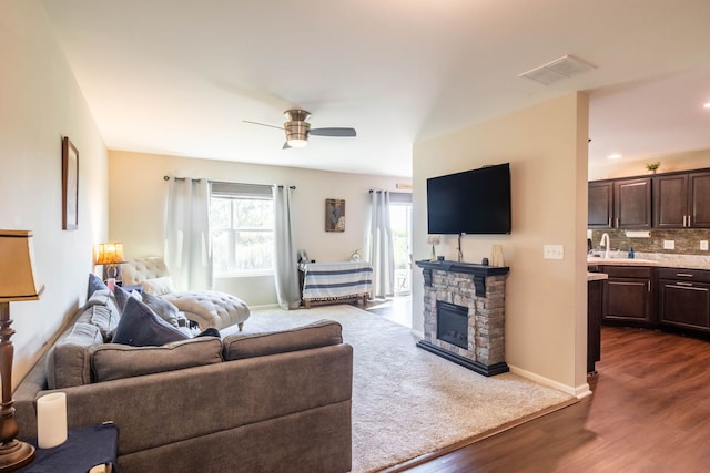
<path fill-rule="evenodd" d="M 189 337 L 160 318 L 145 304 L 130 297 L 113 335 L 113 343 L 133 347 L 161 346 Z"/>

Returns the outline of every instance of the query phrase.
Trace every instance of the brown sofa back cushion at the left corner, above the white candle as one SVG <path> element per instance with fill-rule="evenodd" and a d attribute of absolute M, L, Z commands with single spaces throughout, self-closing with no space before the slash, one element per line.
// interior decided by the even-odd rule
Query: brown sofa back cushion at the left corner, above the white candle
<path fill-rule="evenodd" d="M 47 384 L 49 389 L 63 389 L 91 382 L 91 349 L 103 343 L 99 327 L 77 322 L 60 338 L 47 356 Z"/>

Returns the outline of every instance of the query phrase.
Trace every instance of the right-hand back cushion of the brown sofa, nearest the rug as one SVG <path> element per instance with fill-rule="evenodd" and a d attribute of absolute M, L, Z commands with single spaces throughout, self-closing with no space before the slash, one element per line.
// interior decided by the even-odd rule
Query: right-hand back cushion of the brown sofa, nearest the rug
<path fill-rule="evenodd" d="M 222 357 L 230 361 L 339 345 L 342 330 L 335 320 L 318 320 L 290 330 L 229 335 L 222 340 Z"/>

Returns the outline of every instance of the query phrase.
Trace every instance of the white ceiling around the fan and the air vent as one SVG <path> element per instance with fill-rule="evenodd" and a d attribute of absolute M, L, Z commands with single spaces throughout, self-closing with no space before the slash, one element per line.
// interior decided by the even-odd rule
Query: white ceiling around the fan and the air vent
<path fill-rule="evenodd" d="M 43 4 L 111 150 L 408 176 L 413 143 L 572 91 L 591 91 L 590 163 L 710 148 L 708 0 Z M 566 54 L 597 69 L 518 76 Z M 358 136 L 282 150 L 243 123 L 291 107 Z"/>

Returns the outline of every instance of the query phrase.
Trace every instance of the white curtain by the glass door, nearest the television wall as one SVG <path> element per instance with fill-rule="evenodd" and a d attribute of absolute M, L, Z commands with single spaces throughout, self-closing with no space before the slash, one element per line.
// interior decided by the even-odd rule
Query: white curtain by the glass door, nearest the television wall
<path fill-rule="evenodd" d="M 368 259 L 373 265 L 373 296 L 389 297 L 395 287 L 395 256 L 389 223 L 389 192 L 371 192 Z"/>

